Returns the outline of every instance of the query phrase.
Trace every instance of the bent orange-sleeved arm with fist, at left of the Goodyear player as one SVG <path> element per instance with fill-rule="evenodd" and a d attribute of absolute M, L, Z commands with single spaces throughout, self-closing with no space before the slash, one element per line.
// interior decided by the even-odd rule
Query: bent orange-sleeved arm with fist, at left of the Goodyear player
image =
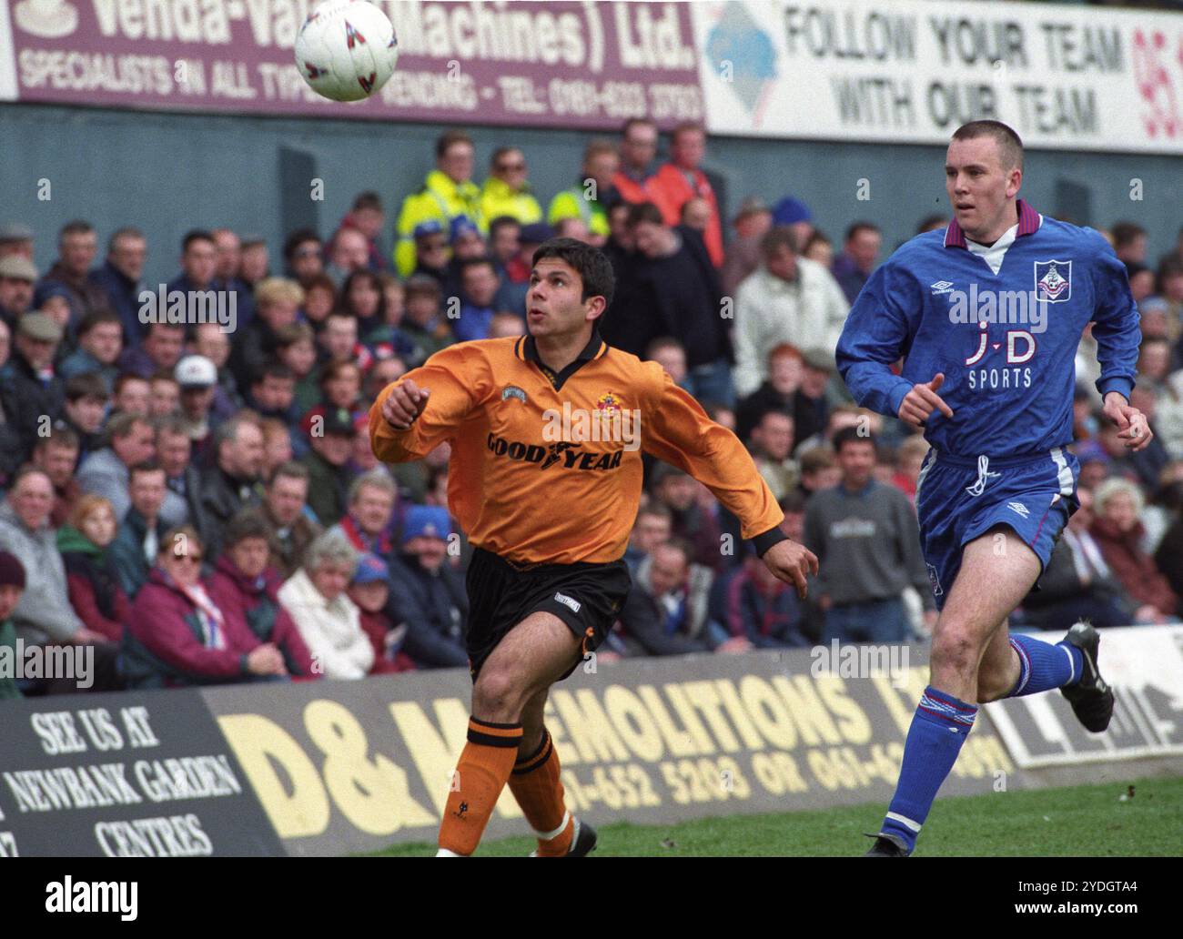
<path fill-rule="evenodd" d="M 451 345 L 387 386 L 370 408 L 370 447 L 382 462 L 419 460 L 451 438 L 490 388 L 480 345 Z"/>

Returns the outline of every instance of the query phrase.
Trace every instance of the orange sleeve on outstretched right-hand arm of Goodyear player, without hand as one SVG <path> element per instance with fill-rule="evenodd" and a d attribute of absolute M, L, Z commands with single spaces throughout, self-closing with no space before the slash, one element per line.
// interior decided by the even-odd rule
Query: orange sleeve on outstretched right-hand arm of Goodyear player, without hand
<path fill-rule="evenodd" d="M 645 452 L 706 486 L 739 519 L 744 538 L 770 532 L 784 520 L 739 438 L 707 417 L 666 373 L 661 373 L 661 386 L 641 417 Z"/>

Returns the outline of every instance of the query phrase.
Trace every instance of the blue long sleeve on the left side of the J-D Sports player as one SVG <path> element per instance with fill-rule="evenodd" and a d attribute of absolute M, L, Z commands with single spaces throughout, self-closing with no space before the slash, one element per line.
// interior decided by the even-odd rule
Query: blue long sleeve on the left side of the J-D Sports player
<path fill-rule="evenodd" d="M 838 341 L 838 370 L 854 400 L 865 408 L 894 417 L 904 396 L 912 389 L 906 378 L 891 371 L 900 356 L 907 355 L 913 329 L 900 306 L 910 292 L 906 278 L 897 274 L 891 261 L 880 266 L 867 281 L 846 317 Z M 920 297 L 912 303 L 916 315 Z"/>

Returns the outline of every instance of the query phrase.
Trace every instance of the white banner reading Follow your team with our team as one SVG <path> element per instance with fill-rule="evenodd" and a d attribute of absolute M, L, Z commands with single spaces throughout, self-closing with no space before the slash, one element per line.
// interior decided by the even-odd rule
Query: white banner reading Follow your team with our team
<path fill-rule="evenodd" d="M 717 134 L 1183 153 L 1183 14 L 1055 2 L 694 4 Z"/>

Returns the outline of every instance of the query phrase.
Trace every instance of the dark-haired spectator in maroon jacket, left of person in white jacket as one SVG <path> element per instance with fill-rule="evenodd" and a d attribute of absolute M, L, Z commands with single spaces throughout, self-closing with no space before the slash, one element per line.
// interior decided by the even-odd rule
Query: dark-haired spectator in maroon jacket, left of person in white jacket
<path fill-rule="evenodd" d="M 287 674 L 318 678 L 291 614 L 276 597 L 284 578 L 269 564 L 270 536 L 257 511 L 246 510 L 232 518 L 206 589 L 226 616 L 241 619 L 259 642 L 270 642 L 279 649 Z"/>

